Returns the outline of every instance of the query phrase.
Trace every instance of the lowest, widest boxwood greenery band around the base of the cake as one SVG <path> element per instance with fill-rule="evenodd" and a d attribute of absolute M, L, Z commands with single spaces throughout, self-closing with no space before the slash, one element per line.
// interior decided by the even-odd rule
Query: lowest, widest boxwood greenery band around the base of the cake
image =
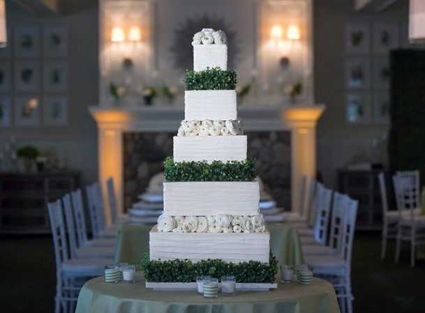
<path fill-rule="evenodd" d="M 274 283 L 278 273 L 278 261 L 270 252 L 269 264 L 248 261 L 239 264 L 225 263 L 221 259 L 207 259 L 193 263 L 188 259 L 170 261 L 142 259 L 142 271 L 148 282 L 195 282 L 198 275 L 222 277 L 232 275 L 237 282 Z"/>

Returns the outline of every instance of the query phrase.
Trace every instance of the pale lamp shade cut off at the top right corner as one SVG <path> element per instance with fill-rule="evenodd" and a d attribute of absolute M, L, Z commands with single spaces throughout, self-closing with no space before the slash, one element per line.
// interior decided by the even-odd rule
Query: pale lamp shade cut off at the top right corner
<path fill-rule="evenodd" d="M 409 4 L 410 43 L 425 43 L 425 1 L 410 0 Z"/>

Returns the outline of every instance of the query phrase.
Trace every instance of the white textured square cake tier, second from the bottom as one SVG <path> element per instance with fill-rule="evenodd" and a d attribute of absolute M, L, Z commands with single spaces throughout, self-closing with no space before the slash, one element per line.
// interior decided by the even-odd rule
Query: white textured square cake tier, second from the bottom
<path fill-rule="evenodd" d="M 164 183 L 164 215 L 258 215 L 258 181 Z"/>

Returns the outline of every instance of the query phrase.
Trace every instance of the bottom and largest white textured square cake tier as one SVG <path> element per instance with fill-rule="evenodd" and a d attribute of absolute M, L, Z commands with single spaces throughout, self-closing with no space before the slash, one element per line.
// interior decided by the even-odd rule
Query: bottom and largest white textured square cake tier
<path fill-rule="evenodd" d="M 149 232 L 151 260 L 188 259 L 193 262 L 221 259 L 235 264 L 260 261 L 269 264 L 269 231 L 261 233 L 173 233 Z"/>

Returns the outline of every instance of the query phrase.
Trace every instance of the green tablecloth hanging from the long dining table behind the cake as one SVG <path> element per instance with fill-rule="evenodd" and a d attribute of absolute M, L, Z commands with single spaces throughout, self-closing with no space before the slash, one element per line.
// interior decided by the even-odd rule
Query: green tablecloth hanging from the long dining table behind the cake
<path fill-rule="evenodd" d="M 115 261 L 140 264 L 149 252 L 151 225 L 123 224 L 118 233 Z M 269 223 L 270 248 L 281 264 L 301 264 L 301 243 L 297 230 L 289 223 Z"/>

